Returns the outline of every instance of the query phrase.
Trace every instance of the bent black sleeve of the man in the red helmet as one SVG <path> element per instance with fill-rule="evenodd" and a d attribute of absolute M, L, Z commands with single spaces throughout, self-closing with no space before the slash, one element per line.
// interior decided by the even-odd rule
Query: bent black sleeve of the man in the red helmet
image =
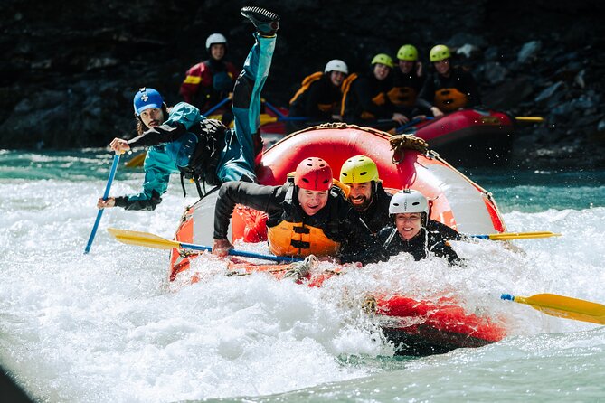
<path fill-rule="evenodd" d="M 227 239 L 229 220 L 236 204 L 267 213 L 279 210 L 285 197 L 282 187 L 240 181 L 223 183 L 214 207 L 214 239 Z"/>

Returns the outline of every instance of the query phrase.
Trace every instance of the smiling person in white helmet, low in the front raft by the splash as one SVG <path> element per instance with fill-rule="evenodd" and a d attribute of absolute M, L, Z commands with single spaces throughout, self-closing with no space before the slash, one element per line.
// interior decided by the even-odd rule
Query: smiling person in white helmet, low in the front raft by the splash
<path fill-rule="evenodd" d="M 429 219 L 429 203 L 421 192 L 402 190 L 392 196 L 389 204 L 392 226 L 378 233 L 386 261 L 401 252 L 410 253 L 414 260 L 428 258 L 432 253 L 448 258 L 449 264 L 459 264 L 461 259 L 448 244 L 448 239 L 460 239 L 457 231 L 439 221 Z"/>

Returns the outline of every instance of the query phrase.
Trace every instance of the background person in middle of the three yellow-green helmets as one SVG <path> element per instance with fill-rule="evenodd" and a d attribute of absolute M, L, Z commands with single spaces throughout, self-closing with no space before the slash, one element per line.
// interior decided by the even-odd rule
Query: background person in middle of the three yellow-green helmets
<path fill-rule="evenodd" d="M 418 50 L 410 44 L 399 48 L 397 59 L 399 65 L 392 71 L 392 89 L 388 93 L 389 99 L 395 107 L 407 109 L 409 114 L 413 114 L 416 98 L 426 79 L 422 71 L 422 62 L 418 61 Z"/>

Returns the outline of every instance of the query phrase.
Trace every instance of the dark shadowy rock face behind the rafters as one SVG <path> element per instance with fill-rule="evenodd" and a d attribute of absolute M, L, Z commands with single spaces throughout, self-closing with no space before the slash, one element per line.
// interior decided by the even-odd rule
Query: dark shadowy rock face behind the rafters
<path fill-rule="evenodd" d="M 546 122 L 519 127 L 514 163 L 605 164 L 605 4 L 418 0 L 257 1 L 281 15 L 263 96 L 287 105 L 307 74 L 343 59 L 363 71 L 378 52 L 404 43 L 425 67 L 436 43 L 456 52 L 480 83 L 484 103 Z M 241 66 L 252 38 L 244 1 L 4 0 L 0 9 L 0 147 L 107 145 L 134 133 L 132 96 L 158 89 L 181 100 L 184 71 L 207 58 L 204 41 L 229 39 Z M 591 150 L 591 153 L 586 153 Z"/>

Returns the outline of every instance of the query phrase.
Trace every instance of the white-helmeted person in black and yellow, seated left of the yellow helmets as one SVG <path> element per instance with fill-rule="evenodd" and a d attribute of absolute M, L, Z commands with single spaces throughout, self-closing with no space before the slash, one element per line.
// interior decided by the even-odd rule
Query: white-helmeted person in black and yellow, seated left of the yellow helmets
<path fill-rule="evenodd" d="M 349 68 L 345 61 L 328 61 L 324 72 L 317 71 L 305 78 L 297 93 L 290 99 L 288 117 L 307 117 L 307 121 L 288 121 L 288 131 L 319 125 L 332 120 L 342 120 L 340 89 Z"/>

